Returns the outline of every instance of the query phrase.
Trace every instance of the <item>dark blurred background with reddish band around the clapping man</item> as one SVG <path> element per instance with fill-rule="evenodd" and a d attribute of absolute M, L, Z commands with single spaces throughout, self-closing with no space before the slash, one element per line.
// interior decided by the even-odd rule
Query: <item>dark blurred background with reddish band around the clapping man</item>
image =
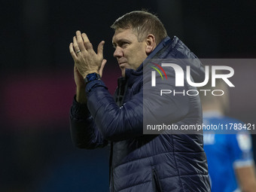
<path fill-rule="evenodd" d="M 108 148 L 77 149 L 69 135 L 69 43 L 78 29 L 95 48 L 105 40 L 103 81 L 114 93 L 120 71 L 109 26 L 142 8 L 157 13 L 169 36 L 200 58 L 256 56 L 254 0 L 1 1 L 0 191 L 108 191 Z M 232 67 L 228 115 L 255 123 L 256 66 Z"/>

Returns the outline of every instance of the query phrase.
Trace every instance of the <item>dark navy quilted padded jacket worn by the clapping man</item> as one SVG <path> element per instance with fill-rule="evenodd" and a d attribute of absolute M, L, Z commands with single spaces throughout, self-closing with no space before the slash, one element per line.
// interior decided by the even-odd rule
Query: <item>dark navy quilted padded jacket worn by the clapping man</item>
<path fill-rule="evenodd" d="M 197 57 L 177 37 L 167 37 L 148 56 L 152 58 Z M 183 69 L 190 65 L 193 81 L 202 82 L 204 71 L 198 59 L 182 65 Z M 87 105 L 74 100 L 71 108 L 73 142 L 78 148 L 87 149 L 111 143 L 111 191 L 210 191 L 202 134 L 143 135 L 143 110 L 150 115 L 157 105 L 150 96 L 142 101 L 143 93 L 151 93 L 143 90 L 149 81 L 143 82 L 142 69 L 143 66 L 136 71 L 126 69 L 126 78 L 118 80 L 114 98 L 101 80 L 87 84 Z M 175 77 L 172 70 L 166 70 L 166 74 Z M 192 88 L 185 84 L 186 90 Z M 202 123 L 198 96 L 164 98 L 164 105 L 169 108 L 169 123 L 179 126 Z"/>

